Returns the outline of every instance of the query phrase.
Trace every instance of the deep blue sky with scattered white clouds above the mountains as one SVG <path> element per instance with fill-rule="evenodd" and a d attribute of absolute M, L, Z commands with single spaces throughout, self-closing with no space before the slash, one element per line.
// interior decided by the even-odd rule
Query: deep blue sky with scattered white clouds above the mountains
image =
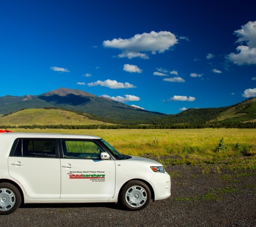
<path fill-rule="evenodd" d="M 256 96 L 256 2 L 1 1 L 0 96 L 61 87 L 162 113 Z"/>

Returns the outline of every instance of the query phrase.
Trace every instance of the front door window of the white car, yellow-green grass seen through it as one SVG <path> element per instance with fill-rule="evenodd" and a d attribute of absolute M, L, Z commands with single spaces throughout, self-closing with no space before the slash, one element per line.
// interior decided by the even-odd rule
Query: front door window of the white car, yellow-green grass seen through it
<path fill-rule="evenodd" d="M 93 141 L 62 140 L 64 158 L 99 159 L 101 148 Z"/>

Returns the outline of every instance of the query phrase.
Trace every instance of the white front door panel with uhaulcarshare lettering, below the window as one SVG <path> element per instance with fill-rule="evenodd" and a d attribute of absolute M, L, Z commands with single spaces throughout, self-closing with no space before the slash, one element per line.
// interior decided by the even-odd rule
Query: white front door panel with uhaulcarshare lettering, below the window
<path fill-rule="evenodd" d="M 115 161 L 61 159 L 60 198 L 112 198 Z"/>

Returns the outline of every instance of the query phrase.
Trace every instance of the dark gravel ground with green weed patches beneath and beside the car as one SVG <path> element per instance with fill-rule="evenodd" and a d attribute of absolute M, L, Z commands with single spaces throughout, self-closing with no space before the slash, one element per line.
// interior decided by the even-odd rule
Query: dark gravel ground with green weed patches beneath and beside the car
<path fill-rule="evenodd" d="M 256 170 L 169 166 L 172 195 L 141 211 L 117 204 L 27 204 L 0 226 L 256 226 Z"/>

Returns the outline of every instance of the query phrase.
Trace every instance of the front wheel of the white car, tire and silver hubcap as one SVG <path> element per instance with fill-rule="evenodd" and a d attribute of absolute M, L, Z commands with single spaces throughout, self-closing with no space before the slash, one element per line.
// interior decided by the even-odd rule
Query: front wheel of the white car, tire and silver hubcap
<path fill-rule="evenodd" d="M 142 181 L 129 181 L 121 191 L 120 200 L 126 210 L 142 210 L 151 200 L 151 191 Z"/>

